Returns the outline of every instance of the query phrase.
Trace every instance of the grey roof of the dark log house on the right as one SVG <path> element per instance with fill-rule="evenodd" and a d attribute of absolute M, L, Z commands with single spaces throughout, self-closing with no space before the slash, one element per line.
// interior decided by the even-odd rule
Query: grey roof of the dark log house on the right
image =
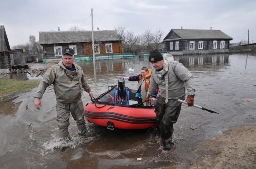
<path fill-rule="evenodd" d="M 171 31 L 182 39 L 233 39 L 220 30 L 172 29 Z"/>

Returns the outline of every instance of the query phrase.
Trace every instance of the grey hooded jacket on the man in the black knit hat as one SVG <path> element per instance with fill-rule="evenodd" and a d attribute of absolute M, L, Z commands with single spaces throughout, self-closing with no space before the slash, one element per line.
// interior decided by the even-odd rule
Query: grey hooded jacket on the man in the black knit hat
<path fill-rule="evenodd" d="M 193 75 L 181 63 L 174 61 L 172 55 L 165 56 L 164 68 L 160 71 L 152 70 L 148 94 L 153 95 L 158 85 L 159 94 L 164 98 L 185 96 L 185 88 L 188 95 L 194 95 L 196 90 Z"/>

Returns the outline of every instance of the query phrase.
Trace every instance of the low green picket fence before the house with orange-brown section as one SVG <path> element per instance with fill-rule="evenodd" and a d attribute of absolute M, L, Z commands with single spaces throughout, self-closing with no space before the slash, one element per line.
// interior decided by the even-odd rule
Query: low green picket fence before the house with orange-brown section
<path fill-rule="evenodd" d="M 97 54 L 95 60 L 135 58 L 135 53 Z M 42 58 L 43 63 L 60 61 L 61 57 Z M 75 61 L 93 60 L 92 55 L 75 56 Z"/>

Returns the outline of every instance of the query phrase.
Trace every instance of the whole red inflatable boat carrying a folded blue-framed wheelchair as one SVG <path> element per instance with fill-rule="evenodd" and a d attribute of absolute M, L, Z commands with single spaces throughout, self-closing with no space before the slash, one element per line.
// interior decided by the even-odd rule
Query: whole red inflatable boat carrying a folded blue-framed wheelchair
<path fill-rule="evenodd" d="M 136 100 L 136 90 L 123 87 L 124 82 L 111 86 L 84 108 L 85 118 L 94 124 L 105 126 L 110 130 L 118 129 L 151 129 L 156 126 L 155 106 L 129 104 Z"/>

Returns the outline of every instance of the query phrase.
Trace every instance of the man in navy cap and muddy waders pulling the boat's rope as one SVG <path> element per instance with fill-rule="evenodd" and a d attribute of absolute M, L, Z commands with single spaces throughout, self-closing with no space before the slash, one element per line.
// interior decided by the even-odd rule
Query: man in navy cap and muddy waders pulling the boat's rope
<path fill-rule="evenodd" d="M 56 95 L 56 111 L 59 133 L 61 140 L 69 140 L 68 133 L 69 115 L 76 121 L 77 132 L 79 136 L 84 136 L 87 132 L 84 122 L 84 106 L 81 99 L 83 88 L 92 97 L 91 88 L 87 84 L 84 77 L 83 69 L 74 63 L 74 51 L 70 48 L 65 48 L 62 52 L 62 60 L 50 67 L 44 74 L 41 80 L 36 96 L 35 107 L 42 107 L 41 98 L 45 89 L 53 85 Z"/>

